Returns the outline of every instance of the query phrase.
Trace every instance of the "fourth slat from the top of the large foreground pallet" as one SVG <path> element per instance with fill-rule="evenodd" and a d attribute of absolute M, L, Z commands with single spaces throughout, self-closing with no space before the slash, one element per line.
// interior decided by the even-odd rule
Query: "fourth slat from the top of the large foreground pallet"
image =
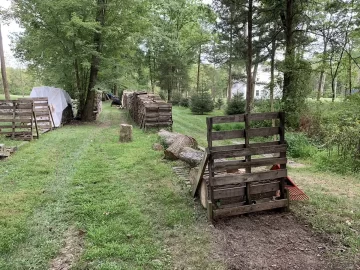
<path fill-rule="evenodd" d="M 247 167 L 261 167 L 261 166 L 286 164 L 286 163 L 287 163 L 287 158 L 277 158 L 277 157 L 252 159 L 250 162 L 246 162 L 245 160 L 217 161 L 214 164 L 214 170 L 218 172 L 225 170 L 242 169 Z"/>

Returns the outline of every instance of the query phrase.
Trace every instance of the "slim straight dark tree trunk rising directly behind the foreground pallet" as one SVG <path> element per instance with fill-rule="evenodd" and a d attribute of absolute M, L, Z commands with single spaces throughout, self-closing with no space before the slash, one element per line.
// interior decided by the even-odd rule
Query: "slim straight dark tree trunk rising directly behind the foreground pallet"
<path fill-rule="evenodd" d="M 246 74 L 247 74 L 247 88 L 246 88 L 246 113 L 251 112 L 251 100 L 252 100 L 252 12 L 253 12 L 253 0 L 249 0 L 248 7 L 248 37 L 247 37 L 247 63 L 246 63 Z"/>

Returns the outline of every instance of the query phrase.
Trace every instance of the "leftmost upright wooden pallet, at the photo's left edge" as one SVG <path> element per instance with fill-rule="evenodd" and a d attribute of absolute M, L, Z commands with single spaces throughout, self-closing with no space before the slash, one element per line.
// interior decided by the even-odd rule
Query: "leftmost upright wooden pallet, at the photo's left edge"
<path fill-rule="evenodd" d="M 32 140 L 33 132 L 36 132 L 38 136 L 34 116 L 32 100 L 0 100 L 0 135 L 12 139 Z"/>

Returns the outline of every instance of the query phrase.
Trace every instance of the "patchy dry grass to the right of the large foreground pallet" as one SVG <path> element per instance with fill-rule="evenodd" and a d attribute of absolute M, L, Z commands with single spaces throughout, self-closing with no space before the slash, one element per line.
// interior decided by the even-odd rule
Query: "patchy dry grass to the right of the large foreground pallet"
<path fill-rule="evenodd" d="M 319 172 L 312 167 L 291 169 L 289 174 L 310 197 L 309 201 L 294 203 L 294 213 L 358 256 L 360 177 Z"/>

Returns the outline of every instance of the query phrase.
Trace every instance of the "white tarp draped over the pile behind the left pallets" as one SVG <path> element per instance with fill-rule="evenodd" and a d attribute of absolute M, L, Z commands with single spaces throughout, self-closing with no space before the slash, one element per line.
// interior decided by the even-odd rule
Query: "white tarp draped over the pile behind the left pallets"
<path fill-rule="evenodd" d="M 61 125 L 63 110 L 65 110 L 68 104 L 72 105 L 70 95 L 60 88 L 49 86 L 34 87 L 30 93 L 30 97 L 48 98 L 56 127 Z"/>

